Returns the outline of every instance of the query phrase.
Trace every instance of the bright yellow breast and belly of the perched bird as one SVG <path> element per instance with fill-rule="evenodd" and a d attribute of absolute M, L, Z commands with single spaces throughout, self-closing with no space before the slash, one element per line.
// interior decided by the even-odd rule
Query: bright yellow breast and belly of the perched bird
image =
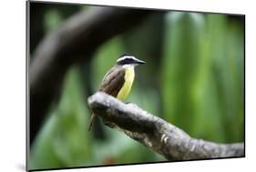
<path fill-rule="evenodd" d="M 128 94 L 130 92 L 133 80 L 134 80 L 134 66 L 129 66 L 126 68 L 124 85 L 118 92 L 117 98 L 119 100 L 124 101 L 127 98 Z"/>

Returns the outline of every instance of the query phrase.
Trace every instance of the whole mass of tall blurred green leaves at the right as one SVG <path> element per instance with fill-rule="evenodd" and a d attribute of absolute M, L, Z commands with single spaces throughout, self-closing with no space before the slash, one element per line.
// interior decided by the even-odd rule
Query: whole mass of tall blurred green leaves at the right
<path fill-rule="evenodd" d="M 170 13 L 164 114 L 194 137 L 243 140 L 243 30 L 226 15 Z"/>

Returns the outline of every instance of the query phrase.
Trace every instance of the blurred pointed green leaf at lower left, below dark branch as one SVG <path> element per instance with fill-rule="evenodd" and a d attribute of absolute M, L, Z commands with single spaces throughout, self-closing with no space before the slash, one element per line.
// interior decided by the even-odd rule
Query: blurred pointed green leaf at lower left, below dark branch
<path fill-rule="evenodd" d="M 84 166 L 92 156 L 88 110 L 77 70 L 71 70 L 59 104 L 49 114 L 31 150 L 29 167 Z"/>

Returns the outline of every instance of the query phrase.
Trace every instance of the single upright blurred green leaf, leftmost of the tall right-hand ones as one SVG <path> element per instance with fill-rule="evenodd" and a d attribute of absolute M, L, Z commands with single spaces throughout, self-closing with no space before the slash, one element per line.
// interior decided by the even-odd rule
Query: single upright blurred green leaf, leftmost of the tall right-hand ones
<path fill-rule="evenodd" d="M 196 121 L 192 83 L 199 66 L 203 16 L 170 13 L 163 60 L 164 114 L 170 122 L 189 131 Z M 189 43 L 189 44 L 188 44 Z M 186 119 L 186 120 L 184 120 Z"/>

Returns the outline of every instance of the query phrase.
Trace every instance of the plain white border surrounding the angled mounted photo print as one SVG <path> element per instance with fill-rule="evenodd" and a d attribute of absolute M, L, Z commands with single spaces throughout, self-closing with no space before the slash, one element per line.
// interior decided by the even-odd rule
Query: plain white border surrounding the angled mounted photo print
<path fill-rule="evenodd" d="M 45 0 L 46 1 L 46 0 Z M 54 1 L 54 0 L 53 0 Z M 190 161 L 125 167 L 62 171 L 239 171 L 255 169 L 255 5 L 251 0 L 61 0 L 62 2 L 121 5 L 246 15 L 246 158 Z M 254 8 L 254 9 L 253 9 Z M 0 10 L 0 171 L 24 171 L 26 162 L 26 3 L 5 0 Z M 250 170 L 251 171 L 251 170 Z"/>

